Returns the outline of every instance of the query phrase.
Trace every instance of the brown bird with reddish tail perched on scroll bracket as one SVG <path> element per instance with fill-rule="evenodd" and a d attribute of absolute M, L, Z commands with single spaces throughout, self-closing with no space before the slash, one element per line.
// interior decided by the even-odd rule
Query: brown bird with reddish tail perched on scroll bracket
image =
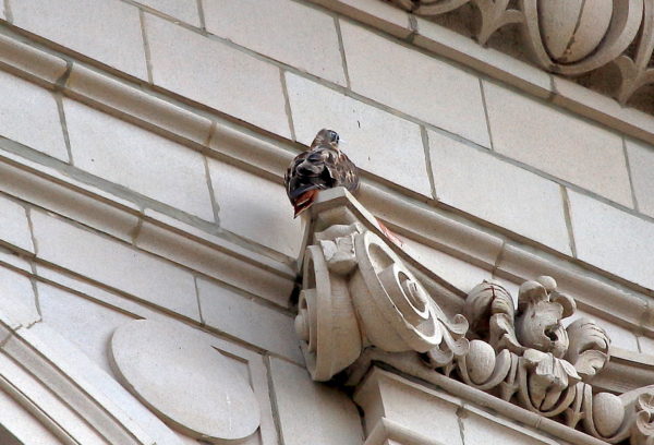
<path fill-rule="evenodd" d="M 359 188 L 356 166 L 338 147 L 339 135 L 323 129 L 311 148 L 295 156 L 283 181 L 295 217 L 307 209 L 320 190 L 344 187 L 350 192 Z"/>

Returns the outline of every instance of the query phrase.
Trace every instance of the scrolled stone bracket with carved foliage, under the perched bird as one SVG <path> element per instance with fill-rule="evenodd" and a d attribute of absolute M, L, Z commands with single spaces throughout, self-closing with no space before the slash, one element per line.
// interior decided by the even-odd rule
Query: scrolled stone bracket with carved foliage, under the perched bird
<path fill-rule="evenodd" d="M 507 289 L 483 281 L 449 314 L 460 300 L 452 287 L 387 242 L 349 194 L 326 191 L 312 212 L 295 328 L 314 380 L 356 383 L 371 351 L 397 369 L 419 357 L 420 372 L 400 371 L 449 376 L 606 443 L 654 444 L 654 388 L 593 388 L 610 339 L 573 320 L 574 300 L 554 278 L 523 282 L 517 309 Z"/>

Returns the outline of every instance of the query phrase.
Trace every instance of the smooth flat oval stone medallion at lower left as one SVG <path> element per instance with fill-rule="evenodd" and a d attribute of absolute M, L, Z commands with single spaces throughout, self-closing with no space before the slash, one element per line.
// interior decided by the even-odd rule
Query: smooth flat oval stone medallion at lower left
<path fill-rule="evenodd" d="M 211 442 L 239 441 L 259 425 L 257 400 L 247 381 L 190 329 L 133 321 L 113 333 L 111 357 L 123 385 L 185 434 Z"/>

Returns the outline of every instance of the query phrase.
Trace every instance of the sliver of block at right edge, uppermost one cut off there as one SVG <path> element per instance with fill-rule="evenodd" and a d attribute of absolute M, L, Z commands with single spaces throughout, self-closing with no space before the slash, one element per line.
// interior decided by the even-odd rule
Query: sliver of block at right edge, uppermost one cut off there
<path fill-rule="evenodd" d="M 654 217 L 654 147 L 633 140 L 625 143 L 638 209 Z"/>

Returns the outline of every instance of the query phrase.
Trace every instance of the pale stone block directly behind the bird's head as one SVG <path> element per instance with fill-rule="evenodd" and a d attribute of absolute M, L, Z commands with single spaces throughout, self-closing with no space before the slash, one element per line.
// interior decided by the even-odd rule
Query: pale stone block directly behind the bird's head
<path fill-rule="evenodd" d="M 318 130 L 330 128 L 359 168 L 431 196 L 416 124 L 294 74 L 287 73 L 287 87 L 299 142 L 308 145 Z"/>

